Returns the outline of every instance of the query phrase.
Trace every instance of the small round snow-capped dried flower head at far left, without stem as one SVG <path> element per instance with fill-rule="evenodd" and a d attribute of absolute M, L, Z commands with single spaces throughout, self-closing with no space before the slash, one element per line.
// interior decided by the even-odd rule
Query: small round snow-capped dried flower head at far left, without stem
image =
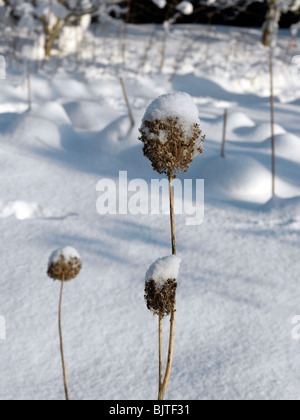
<path fill-rule="evenodd" d="M 49 259 L 48 276 L 54 280 L 69 281 L 78 276 L 82 263 L 78 252 L 66 247 L 53 252 Z"/>

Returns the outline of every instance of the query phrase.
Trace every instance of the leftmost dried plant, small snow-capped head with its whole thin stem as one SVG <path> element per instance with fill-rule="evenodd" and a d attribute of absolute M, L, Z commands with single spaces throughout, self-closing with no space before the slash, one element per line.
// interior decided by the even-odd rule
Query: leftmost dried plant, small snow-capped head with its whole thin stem
<path fill-rule="evenodd" d="M 59 280 L 61 282 L 60 289 L 60 299 L 59 299 L 59 312 L 58 312 L 58 327 L 59 327 L 59 338 L 60 338 L 60 351 L 62 359 L 62 368 L 63 368 L 63 378 L 64 378 L 64 387 L 66 400 L 70 400 L 68 381 L 67 381 L 67 372 L 66 372 L 66 363 L 64 355 L 64 344 L 63 344 L 63 335 L 62 335 L 62 297 L 63 297 L 63 288 L 66 281 L 75 279 L 78 276 L 82 268 L 81 259 L 78 252 L 72 247 L 66 247 L 54 251 L 49 259 L 48 264 L 48 276 L 54 280 Z"/>

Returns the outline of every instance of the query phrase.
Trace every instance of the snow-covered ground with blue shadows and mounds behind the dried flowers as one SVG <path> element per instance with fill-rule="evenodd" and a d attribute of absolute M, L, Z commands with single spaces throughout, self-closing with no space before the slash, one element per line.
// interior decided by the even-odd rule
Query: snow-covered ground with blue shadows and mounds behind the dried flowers
<path fill-rule="evenodd" d="M 185 175 L 205 179 L 205 222 L 187 227 L 176 217 L 183 261 L 166 398 L 299 399 L 300 342 L 291 332 L 300 313 L 300 79 L 289 59 L 300 54 L 299 40 L 290 45 L 282 31 L 276 53 L 270 201 L 268 55 L 259 31 L 176 27 L 163 72 L 157 32 L 142 71 L 152 33 L 131 27 L 125 69 L 111 30 L 106 44 L 98 34 L 96 64 L 76 69 L 71 57 L 33 71 L 30 112 L 24 65 L 0 80 L 0 399 L 64 397 L 59 285 L 46 271 L 51 252 L 66 245 L 83 262 L 63 302 L 71 399 L 156 398 L 158 323 L 143 292 L 149 265 L 171 253 L 169 219 L 99 216 L 96 185 L 119 171 L 157 178 L 138 128 L 149 103 L 174 90 L 192 95 L 207 135 Z M 120 74 L 136 120 L 130 134 Z"/>

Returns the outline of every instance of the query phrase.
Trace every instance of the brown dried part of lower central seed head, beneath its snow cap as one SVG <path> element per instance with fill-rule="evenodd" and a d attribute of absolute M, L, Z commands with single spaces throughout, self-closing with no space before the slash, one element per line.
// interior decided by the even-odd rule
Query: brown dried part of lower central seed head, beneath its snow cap
<path fill-rule="evenodd" d="M 176 289 L 175 279 L 167 280 L 162 287 L 154 280 L 146 281 L 145 300 L 149 311 L 161 317 L 170 315 L 176 305 Z"/>

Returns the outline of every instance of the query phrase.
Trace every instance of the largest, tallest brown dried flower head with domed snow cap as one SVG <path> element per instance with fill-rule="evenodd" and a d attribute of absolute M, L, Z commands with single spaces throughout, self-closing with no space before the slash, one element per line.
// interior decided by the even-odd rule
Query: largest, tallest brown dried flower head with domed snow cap
<path fill-rule="evenodd" d="M 152 167 L 168 178 L 186 172 L 203 152 L 198 109 L 186 93 L 164 95 L 147 109 L 140 128 L 144 155 Z"/>

